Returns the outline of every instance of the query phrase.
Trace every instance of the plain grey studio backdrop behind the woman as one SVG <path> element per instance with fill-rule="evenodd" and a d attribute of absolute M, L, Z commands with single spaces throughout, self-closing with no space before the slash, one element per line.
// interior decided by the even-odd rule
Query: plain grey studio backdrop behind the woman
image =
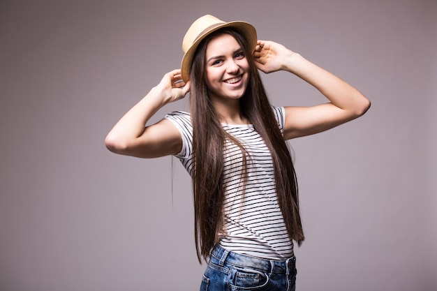
<path fill-rule="evenodd" d="M 297 290 L 437 290 L 434 0 L 0 1 L 0 290 L 198 290 L 188 174 L 103 140 L 206 13 L 251 22 L 372 101 L 292 141 Z M 263 79 L 274 105 L 323 101 L 287 73 Z"/>

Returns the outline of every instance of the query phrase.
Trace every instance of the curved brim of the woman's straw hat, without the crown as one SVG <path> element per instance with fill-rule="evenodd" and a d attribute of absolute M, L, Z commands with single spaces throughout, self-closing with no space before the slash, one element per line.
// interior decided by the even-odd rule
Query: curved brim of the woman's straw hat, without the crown
<path fill-rule="evenodd" d="M 182 57 L 181 74 L 182 74 L 182 80 L 184 80 L 184 82 L 188 82 L 188 80 L 190 80 L 191 63 L 193 62 L 194 53 L 195 50 L 197 50 L 199 43 L 204 38 L 209 36 L 209 34 L 213 33 L 214 31 L 217 31 L 218 29 L 222 29 L 223 27 L 233 27 L 241 31 L 244 38 L 246 38 L 247 43 L 249 43 L 249 50 L 251 50 L 251 52 L 255 50 L 257 36 L 256 36 L 256 29 L 255 27 L 253 27 L 252 24 L 243 21 L 233 21 L 233 22 L 226 22 L 220 24 L 212 29 L 205 31 L 200 36 L 198 36 L 195 42 L 186 51 L 184 57 Z"/>

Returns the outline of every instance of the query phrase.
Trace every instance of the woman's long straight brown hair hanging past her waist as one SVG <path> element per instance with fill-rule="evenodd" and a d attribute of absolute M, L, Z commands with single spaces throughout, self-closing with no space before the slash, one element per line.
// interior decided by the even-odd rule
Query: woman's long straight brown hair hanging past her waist
<path fill-rule="evenodd" d="M 223 130 L 221 121 L 208 97 L 205 79 L 205 53 L 209 40 L 221 33 L 233 36 L 249 62 L 249 84 L 239 99 L 242 115 L 253 124 L 272 154 L 276 195 L 286 223 L 288 235 L 301 244 L 304 240 L 299 216 L 299 199 L 295 168 L 290 151 L 274 117 L 252 52 L 246 40 L 236 29 L 220 29 L 202 40 L 191 65 L 191 122 L 193 124 L 193 200 L 195 246 L 199 262 L 205 260 L 218 242 L 223 227 L 223 144 L 229 139 L 242 150 L 243 168 L 246 152 L 243 145 Z"/>

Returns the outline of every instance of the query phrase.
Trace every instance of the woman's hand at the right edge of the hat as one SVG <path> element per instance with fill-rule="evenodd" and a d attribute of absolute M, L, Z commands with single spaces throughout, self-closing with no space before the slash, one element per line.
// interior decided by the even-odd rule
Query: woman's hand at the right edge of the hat
<path fill-rule="evenodd" d="M 272 73 L 286 68 L 286 61 L 293 52 L 273 41 L 258 40 L 253 52 L 255 65 L 264 73 Z"/>

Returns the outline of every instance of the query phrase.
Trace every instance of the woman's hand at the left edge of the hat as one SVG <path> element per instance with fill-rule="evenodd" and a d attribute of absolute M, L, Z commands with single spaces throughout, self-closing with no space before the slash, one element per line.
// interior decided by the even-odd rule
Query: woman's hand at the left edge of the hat
<path fill-rule="evenodd" d="M 156 88 L 161 90 L 165 102 L 170 103 L 186 96 L 190 91 L 190 81 L 184 82 L 182 80 L 180 69 L 172 70 L 164 75 Z"/>

